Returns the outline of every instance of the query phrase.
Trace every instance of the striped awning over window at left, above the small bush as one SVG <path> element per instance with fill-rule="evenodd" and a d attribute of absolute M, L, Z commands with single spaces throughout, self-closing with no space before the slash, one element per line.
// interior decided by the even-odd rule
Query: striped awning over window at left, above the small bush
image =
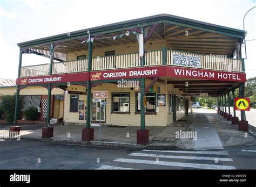
<path fill-rule="evenodd" d="M 40 106 L 42 96 L 23 96 L 21 111 L 25 112 L 31 106 L 38 108 Z"/>

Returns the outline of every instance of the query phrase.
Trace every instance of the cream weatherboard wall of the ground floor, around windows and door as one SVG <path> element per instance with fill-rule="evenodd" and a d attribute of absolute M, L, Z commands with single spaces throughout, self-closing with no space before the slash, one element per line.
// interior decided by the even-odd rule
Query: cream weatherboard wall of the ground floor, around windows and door
<path fill-rule="evenodd" d="M 146 85 L 150 84 L 150 80 L 146 80 Z M 169 92 L 180 96 L 180 91 L 170 87 L 169 84 L 155 83 L 160 87 L 160 93 L 166 94 L 166 106 L 159 106 L 159 112 L 157 114 L 146 114 L 146 126 L 166 126 L 172 123 L 172 114 L 169 114 Z M 85 91 L 85 87 L 79 85 L 71 85 L 68 90 L 72 91 Z M 130 90 L 130 88 L 118 88 L 117 84 L 103 83 L 97 87 L 92 88 L 93 91 L 106 90 L 108 91 L 108 97 L 106 98 L 106 124 L 120 125 L 120 126 L 139 126 L 140 125 L 140 114 L 136 114 L 136 92 L 140 90 Z M 112 105 L 112 93 L 126 92 L 130 93 L 130 114 L 111 114 Z M 79 95 L 78 100 L 85 100 L 86 95 Z M 184 110 L 177 112 L 177 120 L 185 116 Z M 79 120 L 78 112 L 70 112 L 70 95 L 65 95 L 64 101 L 64 121 L 66 124 L 76 123 L 85 124 L 85 120 Z"/>

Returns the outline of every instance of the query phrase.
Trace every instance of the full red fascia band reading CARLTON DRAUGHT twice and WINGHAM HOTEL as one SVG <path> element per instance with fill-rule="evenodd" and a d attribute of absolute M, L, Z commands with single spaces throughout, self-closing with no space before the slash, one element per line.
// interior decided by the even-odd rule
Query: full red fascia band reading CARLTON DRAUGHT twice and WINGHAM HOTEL
<path fill-rule="evenodd" d="M 17 78 L 17 85 L 35 85 L 49 83 L 68 83 L 68 82 L 86 82 L 87 72 L 45 75 L 37 77 Z M 246 82 L 245 73 L 215 71 L 196 68 L 185 68 L 178 66 L 155 66 L 155 67 L 138 67 L 127 69 L 114 69 L 105 71 L 91 71 L 89 73 L 90 81 L 104 80 L 121 80 L 133 78 L 150 78 L 150 77 L 180 77 L 180 78 L 196 78 L 200 80 L 217 80 L 231 82 Z"/>

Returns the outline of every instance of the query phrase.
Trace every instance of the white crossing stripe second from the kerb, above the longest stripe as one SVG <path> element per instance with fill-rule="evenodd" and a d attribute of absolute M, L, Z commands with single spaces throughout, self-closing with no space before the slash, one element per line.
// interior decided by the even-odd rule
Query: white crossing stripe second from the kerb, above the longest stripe
<path fill-rule="evenodd" d="M 157 154 L 147 154 L 147 153 L 131 153 L 130 156 L 148 156 L 148 157 L 158 157 L 158 158 L 167 158 L 167 159 L 188 159 L 188 160 L 212 160 L 215 161 L 230 161 L 233 162 L 233 159 L 230 158 L 220 158 L 220 157 L 206 157 L 206 156 L 173 156 L 173 155 L 157 155 Z"/>

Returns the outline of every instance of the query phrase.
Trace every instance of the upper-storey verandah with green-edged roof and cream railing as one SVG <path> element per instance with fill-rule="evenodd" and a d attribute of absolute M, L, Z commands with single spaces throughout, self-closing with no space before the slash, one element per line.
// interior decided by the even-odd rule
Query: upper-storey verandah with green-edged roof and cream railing
<path fill-rule="evenodd" d="M 172 65 L 173 51 L 182 51 L 182 54 L 189 52 L 188 55 L 199 56 L 201 62 L 203 62 L 199 68 L 242 71 L 241 61 L 229 61 L 230 67 L 228 67 L 228 63 L 223 64 L 223 61 L 219 61 L 218 64 L 206 63 L 205 56 L 201 54 L 219 54 L 232 58 L 237 51 L 235 50 L 236 47 L 240 47 L 239 50 L 241 50 L 241 42 L 245 37 L 245 31 L 166 14 L 54 35 L 22 42 L 18 46 L 21 47 L 21 53 L 34 53 L 46 57 L 50 57 L 50 46 L 54 46 L 54 60 L 60 62 L 77 60 L 78 56 L 87 54 L 87 31 L 90 31 L 93 39 L 92 57 L 104 56 L 106 51 L 115 51 L 114 54 L 116 55 L 111 59 L 104 57 L 94 59 L 92 70 L 141 66 L 138 57 L 138 34 L 144 32 L 146 46 L 144 65 L 151 66 L 165 63 Z M 167 51 L 166 54 L 165 51 L 161 51 L 163 47 L 172 51 Z M 150 52 L 151 50 L 158 51 Z M 128 57 L 130 59 L 129 62 L 124 59 L 125 66 L 123 64 L 124 56 L 117 56 L 124 53 L 129 53 Z M 167 59 L 162 61 L 163 54 L 166 54 Z M 240 59 L 239 56 L 238 59 Z M 70 68 L 67 69 L 67 67 Z M 87 60 L 84 62 L 53 63 L 52 74 L 75 73 L 86 70 Z M 49 65 L 24 67 L 21 71 L 22 76 L 49 74 Z"/>

